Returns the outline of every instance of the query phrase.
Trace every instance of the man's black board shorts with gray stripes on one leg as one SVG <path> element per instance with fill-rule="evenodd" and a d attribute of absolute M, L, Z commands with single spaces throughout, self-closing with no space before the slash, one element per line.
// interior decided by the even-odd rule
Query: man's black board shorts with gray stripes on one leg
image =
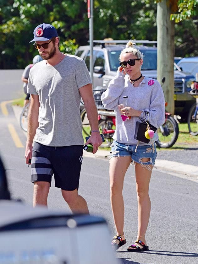
<path fill-rule="evenodd" d="M 31 161 L 31 182 L 52 181 L 65 191 L 78 190 L 83 146 L 49 147 L 35 142 Z"/>

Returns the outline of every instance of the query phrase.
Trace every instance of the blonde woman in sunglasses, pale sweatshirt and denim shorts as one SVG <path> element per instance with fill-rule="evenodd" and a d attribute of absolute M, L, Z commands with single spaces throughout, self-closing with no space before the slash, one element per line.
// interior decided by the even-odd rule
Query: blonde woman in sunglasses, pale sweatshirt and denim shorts
<path fill-rule="evenodd" d="M 101 96 L 104 107 L 115 110 L 116 113 L 116 130 L 111 145 L 109 167 L 111 206 L 117 231 L 112 240 L 112 246 L 117 250 L 126 243 L 122 190 L 125 173 L 133 162 L 138 200 L 138 233 L 137 239 L 129 246 L 128 251 L 147 251 L 145 234 L 151 211 L 149 182 L 157 153 L 155 141 L 138 142 L 134 134 L 136 121 L 147 123 L 149 121 L 156 128 L 164 123 L 164 95 L 157 80 L 142 76 L 140 69 L 143 54 L 134 47 L 132 40 L 121 52 L 119 60 L 117 76 L 111 80 L 107 90 Z M 123 103 L 124 106 L 118 107 Z M 128 117 L 127 120 L 123 121 L 124 117 Z M 154 140 L 157 139 L 158 136 L 155 133 Z"/>

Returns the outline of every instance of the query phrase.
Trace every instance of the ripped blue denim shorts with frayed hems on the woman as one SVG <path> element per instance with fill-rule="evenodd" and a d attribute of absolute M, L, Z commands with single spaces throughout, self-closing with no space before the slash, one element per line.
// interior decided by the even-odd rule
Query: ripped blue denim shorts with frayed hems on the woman
<path fill-rule="evenodd" d="M 135 152 L 136 145 L 127 145 L 114 140 L 110 148 L 110 159 L 112 157 L 131 156 L 131 159 L 134 163 L 140 163 L 147 169 L 149 169 L 148 165 L 155 164 L 155 160 L 157 157 L 155 143 L 153 145 L 139 145 L 137 148 L 137 152 Z M 144 158 L 149 158 L 150 160 L 148 162 L 143 162 L 142 159 Z"/>

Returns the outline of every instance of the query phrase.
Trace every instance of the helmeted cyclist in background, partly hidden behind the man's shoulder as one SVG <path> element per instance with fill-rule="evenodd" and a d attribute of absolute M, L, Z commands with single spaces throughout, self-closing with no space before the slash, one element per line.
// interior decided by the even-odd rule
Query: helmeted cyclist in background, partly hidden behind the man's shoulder
<path fill-rule="evenodd" d="M 41 58 L 40 55 L 36 55 L 32 60 L 32 64 L 27 65 L 23 71 L 21 81 L 24 83 L 23 89 L 24 89 L 24 93 L 26 94 L 23 106 L 27 105 L 30 102 L 30 94 L 27 93 L 27 83 L 28 83 L 28 78 L 30 74 L 30 69 L 32 66 L 34 66 L 35 63 L 41 62 L 42 60 L 43 59 Z"/>

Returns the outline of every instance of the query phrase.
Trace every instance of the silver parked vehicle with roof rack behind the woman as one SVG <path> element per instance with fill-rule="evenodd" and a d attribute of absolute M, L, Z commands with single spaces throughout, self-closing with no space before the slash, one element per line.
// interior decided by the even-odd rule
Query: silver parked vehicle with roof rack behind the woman
<path fill-rule="evenodd" d="M 146 45 L 136 45 L 145 56 L 141 68 L 144 76 L 157 79 L 157 47 Z M 98 45 L 93 47 L 93 84 L 94 87 L 101 86 L 104 90 L 111 79 L 116 76 L 118 69 L 118 58 L 120 52 L 125 48 L 122 44 Z M 85 60 L 88 70 L 90 70 L 90 46 L 80 46 L 75 53 L 76 56 Z M 187 120 L 188 111 L 195 102 L 195 99 L 188 94 L 190 91 L 193 75 L 189 75 L 174 63 L 174 100 L 175 114 L 181 116 L 183 121 Z"/>

